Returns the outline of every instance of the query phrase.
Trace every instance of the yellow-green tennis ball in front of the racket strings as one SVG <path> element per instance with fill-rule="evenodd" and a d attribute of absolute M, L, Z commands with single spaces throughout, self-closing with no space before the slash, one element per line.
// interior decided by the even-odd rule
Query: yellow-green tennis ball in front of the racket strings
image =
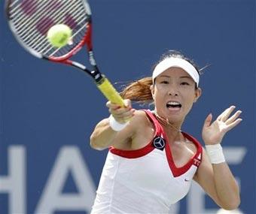
<path fill-rule="evenodd" d="M 54 47 L 64 47 L 72 37 L 72 29 L 64 24 L 52 26 L 47 32 L 47 39 Z"/>

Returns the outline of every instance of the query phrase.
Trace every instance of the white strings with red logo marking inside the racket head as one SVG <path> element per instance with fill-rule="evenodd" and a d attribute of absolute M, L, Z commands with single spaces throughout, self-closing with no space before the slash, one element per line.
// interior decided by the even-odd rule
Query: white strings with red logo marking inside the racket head
<path fill-rule="evenodd" d="M 44 56 L 66 55 L 87 32 L 87 13 L 82 1 L 16 0 L 8 7 L 11 27 L 18 39 L 29 49 Z M 72 29 L 73 44 L 56 48 L 49 43 L 47 31 L 59 23 L 67 24 Z"/>

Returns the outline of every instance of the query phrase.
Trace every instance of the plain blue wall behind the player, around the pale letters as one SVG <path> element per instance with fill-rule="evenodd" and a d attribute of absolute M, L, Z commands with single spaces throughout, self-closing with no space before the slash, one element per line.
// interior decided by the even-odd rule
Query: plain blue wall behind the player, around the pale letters
<path fill-rule="evenodd" d="M 203 95 L 183 130 L 201 140 L 208 113 L 218 116 L 231 104 L 242 110 L 242 123 L 227 134 L 223 145 L 244 152 L 230 168 L 241 185 L 239 209 L 255 213 L 255 2 L 91 0 L 90 5 L 96 60 L 112 82 L 150 76 L 151 66 L 169 49 L 181 50 L 200 67 L 212 65 L 201 77 Z M 0 212 L 11 213 L 10 192 L 4 182 L 6 176 L 11 177 L 10 149 L 22 148 L 26 166 L 22 169 L 26 197 L 22 206 L 26 213 L 34 213 L 65 146 L 81 152 L 96 188 L 107 151 L 90 149 L 89 139 L 108 110 L 105 98 L 82 72 L 26 53 L 8 29 L 3 5 L 0 14 Z M 84 62 L 84 51 L 75 57 Z M 80 193 L 74 177 L 70 170 L 63 194 Z M 204 206 L 206 210 L 217 208 L 208 197 Z M 84 210 L 61 208 L 55 213 Z M 184 198 L 177 213 L 189 210 Z"/>

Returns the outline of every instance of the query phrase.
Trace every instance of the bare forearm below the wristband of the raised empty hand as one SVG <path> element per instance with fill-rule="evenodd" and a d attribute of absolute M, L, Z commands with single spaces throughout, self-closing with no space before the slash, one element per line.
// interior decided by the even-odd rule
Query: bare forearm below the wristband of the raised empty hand
<path fill-rule="evenodd" d="M 212 164 L 215 189 L 224 209 L 236 209 L 240 203 L 239 187 L 227 163 Z"/>

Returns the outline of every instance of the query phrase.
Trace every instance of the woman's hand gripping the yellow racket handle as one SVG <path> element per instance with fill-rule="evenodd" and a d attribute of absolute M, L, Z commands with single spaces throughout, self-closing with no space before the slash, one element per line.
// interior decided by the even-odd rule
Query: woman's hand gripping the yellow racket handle
<path fill-rule="evenodd" d="M 108 101 L 106 104 L 109 113 L 111 113 L 114 119 L 120 123 L 129 121 L 134 116 L 135 112 L 129 99 L 126 99 L 123 102 L 124 107 L 121 107 L 119 104 L 112 104 L 111 101 Z"/>

